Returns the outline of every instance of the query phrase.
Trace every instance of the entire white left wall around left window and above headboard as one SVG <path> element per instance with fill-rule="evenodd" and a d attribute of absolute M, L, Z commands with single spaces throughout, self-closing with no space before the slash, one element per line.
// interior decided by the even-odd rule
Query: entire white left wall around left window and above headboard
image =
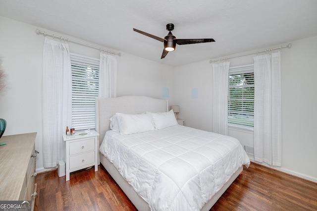
<path fill-rule="evenodd" d="M 43 168 L 42 156 L 42 51 L 44 36 L 39 27 L 0 16 L 0 56 L 7 74 L 8 89 L 0 96 L 0 118 L 7 121 L 5 135 L 37 132 L 36 150 L 40 151 L 37 171 Z M 53 33 L 39 28 L 41 31 Z M 54 33 L 55 35 L 61 35 Z M 63 37 L 76 40 L 67 35 Z M 85 42 L 85 41 L 81 41 Z M 96 46 L 96 44 L 90 45 Z M 104 47 L 101 47 L 104 48 Z M 99 58 L 99 50 L 69 43 L 72 53 Z M 118 59 L 117 96 L 145 95 L 164 98 L 163 87 L 169 89 L 172 102 L 173 69 L 154 61 L 121 52 Z"/>

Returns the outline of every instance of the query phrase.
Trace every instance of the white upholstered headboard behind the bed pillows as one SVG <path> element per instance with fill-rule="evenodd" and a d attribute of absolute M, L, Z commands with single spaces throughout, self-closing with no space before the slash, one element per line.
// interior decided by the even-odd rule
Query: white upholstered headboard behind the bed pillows
<path fill-rule="evenodd" d="M 117 98 L 96 98 L 96 131 L 99 133 L 100 144 L 107 130 L 110 130 L 109 119 L 116 112 L 138 114 L 145 111 L 168 111 L 167 100 L 145 96 L 123 96 Z"/>

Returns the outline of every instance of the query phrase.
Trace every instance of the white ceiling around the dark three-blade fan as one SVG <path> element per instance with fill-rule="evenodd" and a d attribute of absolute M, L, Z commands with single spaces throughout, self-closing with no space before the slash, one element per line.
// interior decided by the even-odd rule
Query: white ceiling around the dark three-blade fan
<path fill-rule="evenodd" d="M 317 0 L 0 0 L 0 15 L 179 66 L 317 35 Z M 177 46 L 132 28 L 179 39 L 216 42 Z M 35 33 L 35 32 L 34 32 Z"/>

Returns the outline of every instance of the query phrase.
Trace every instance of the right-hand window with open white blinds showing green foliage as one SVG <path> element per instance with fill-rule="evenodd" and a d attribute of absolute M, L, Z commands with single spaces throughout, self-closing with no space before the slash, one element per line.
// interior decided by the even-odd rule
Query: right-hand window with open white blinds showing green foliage
<path fill-rule="evenodd" d="M 228 86 L 228 125 L 253 129 L 253 64 L 230 67 Z"/>

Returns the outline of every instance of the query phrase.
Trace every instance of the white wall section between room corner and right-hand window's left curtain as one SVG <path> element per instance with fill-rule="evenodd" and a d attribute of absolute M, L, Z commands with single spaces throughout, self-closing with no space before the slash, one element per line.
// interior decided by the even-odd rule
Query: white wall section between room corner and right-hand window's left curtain
<path fill-rule="evenodd" d="M 212 71 L 208 61 L 174 68 L 174 101 L 184 125 L 212 131 Z"/>

